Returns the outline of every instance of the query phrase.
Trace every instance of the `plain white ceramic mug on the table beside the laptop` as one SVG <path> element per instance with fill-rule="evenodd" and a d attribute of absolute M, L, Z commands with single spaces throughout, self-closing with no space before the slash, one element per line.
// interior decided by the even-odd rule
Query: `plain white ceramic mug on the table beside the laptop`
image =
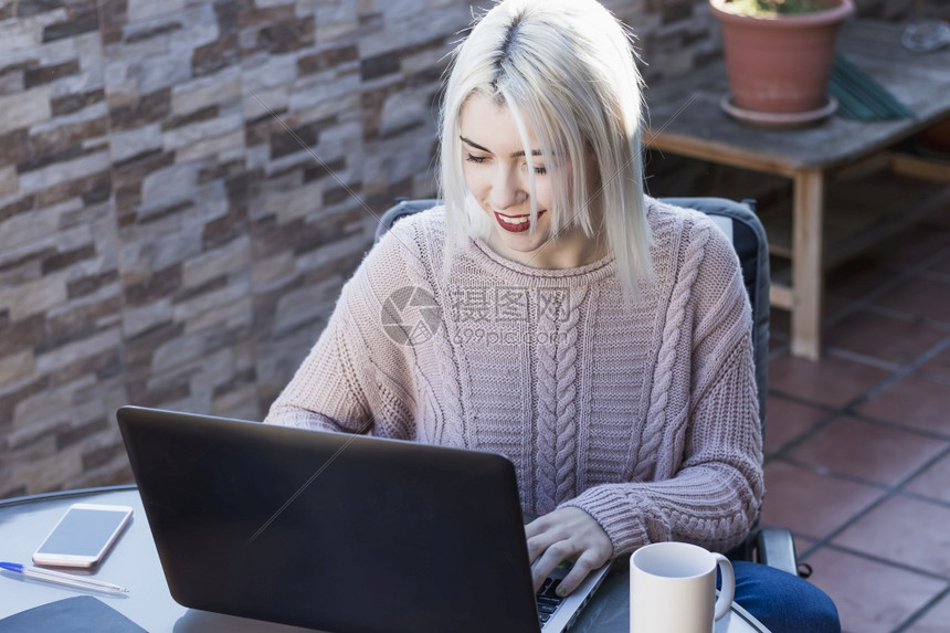
<path fill-rule="evenodd" d="M 722 582 L 716 598 L 716 568 Z M 630 557 L 631 633 L 710 633 L 736 594 L 732 563 L 686 542 L 654 542 Z"/>

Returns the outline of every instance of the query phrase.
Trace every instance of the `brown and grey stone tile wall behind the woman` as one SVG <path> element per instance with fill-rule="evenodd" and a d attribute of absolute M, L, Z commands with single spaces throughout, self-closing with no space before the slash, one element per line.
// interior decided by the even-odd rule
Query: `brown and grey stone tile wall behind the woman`
<path fill-rule="evenodd" d="M 718 54 L 706 0 L 606 3 L 651 81 Z M 374 213 L 433 193 L 472 10 L 0 0 L 0 497 L 129 481 L 125 403 L 264 414 Z"/>

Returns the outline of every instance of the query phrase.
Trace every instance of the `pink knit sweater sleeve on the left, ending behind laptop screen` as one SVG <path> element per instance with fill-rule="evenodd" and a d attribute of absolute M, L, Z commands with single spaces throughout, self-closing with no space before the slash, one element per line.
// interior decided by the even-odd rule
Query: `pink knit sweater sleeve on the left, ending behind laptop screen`
<path fill-rule="evenodd" d="M 383 238 L 346 283 L 326 328 L 265 423 L 412 439 L 409 352 L 383 323 L 393 291 L 413 287 L 402 265 L 413 236 L 403 233 Z"/>

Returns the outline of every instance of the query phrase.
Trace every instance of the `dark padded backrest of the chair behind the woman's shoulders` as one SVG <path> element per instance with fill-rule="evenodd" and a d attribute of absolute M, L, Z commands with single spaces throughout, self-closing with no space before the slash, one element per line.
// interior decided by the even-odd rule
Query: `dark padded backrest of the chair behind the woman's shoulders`
<path fill-rule="evenodd" d="M 766 229 L 756 215 L 752 201 L 736 202 L 726 198 L 662 198 L 664 202 L 695 209 L 709 215 L 731 240 L 742 281 L 752 306 L 752 354 L 756 361 L 756 383 L 759 388 L 759 416 L 766 426 L 766 395 L 769 387 L 769 242 Z M 376 239 L 379 241 L 401 218 L 431 209 L 440 201 L 433 198 L 400 200 L 382 214 Z"/>

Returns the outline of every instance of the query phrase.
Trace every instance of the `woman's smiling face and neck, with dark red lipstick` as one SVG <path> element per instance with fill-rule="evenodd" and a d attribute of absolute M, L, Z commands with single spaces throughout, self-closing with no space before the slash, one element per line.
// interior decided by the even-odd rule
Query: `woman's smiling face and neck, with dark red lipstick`
<path fill-rule="evenodd" d="M 580 229 L 566 229 L 549 236 L 552 182 L 546 169 L 546 157 L 541 156 L 537 138 L 528 129 L 538 208 L 537 222 L 531 225 L 528 159 L 506 105 L 475 93 L 462 107 L 460 127 L 462 173 L 468 191 L 492 222 L 488 238 L 492 250 L 536 268 L 576 267 L 598 259 L 597 244 Z M 570 165 L 561 166 L 560 172 L 570 179 Z"/>

